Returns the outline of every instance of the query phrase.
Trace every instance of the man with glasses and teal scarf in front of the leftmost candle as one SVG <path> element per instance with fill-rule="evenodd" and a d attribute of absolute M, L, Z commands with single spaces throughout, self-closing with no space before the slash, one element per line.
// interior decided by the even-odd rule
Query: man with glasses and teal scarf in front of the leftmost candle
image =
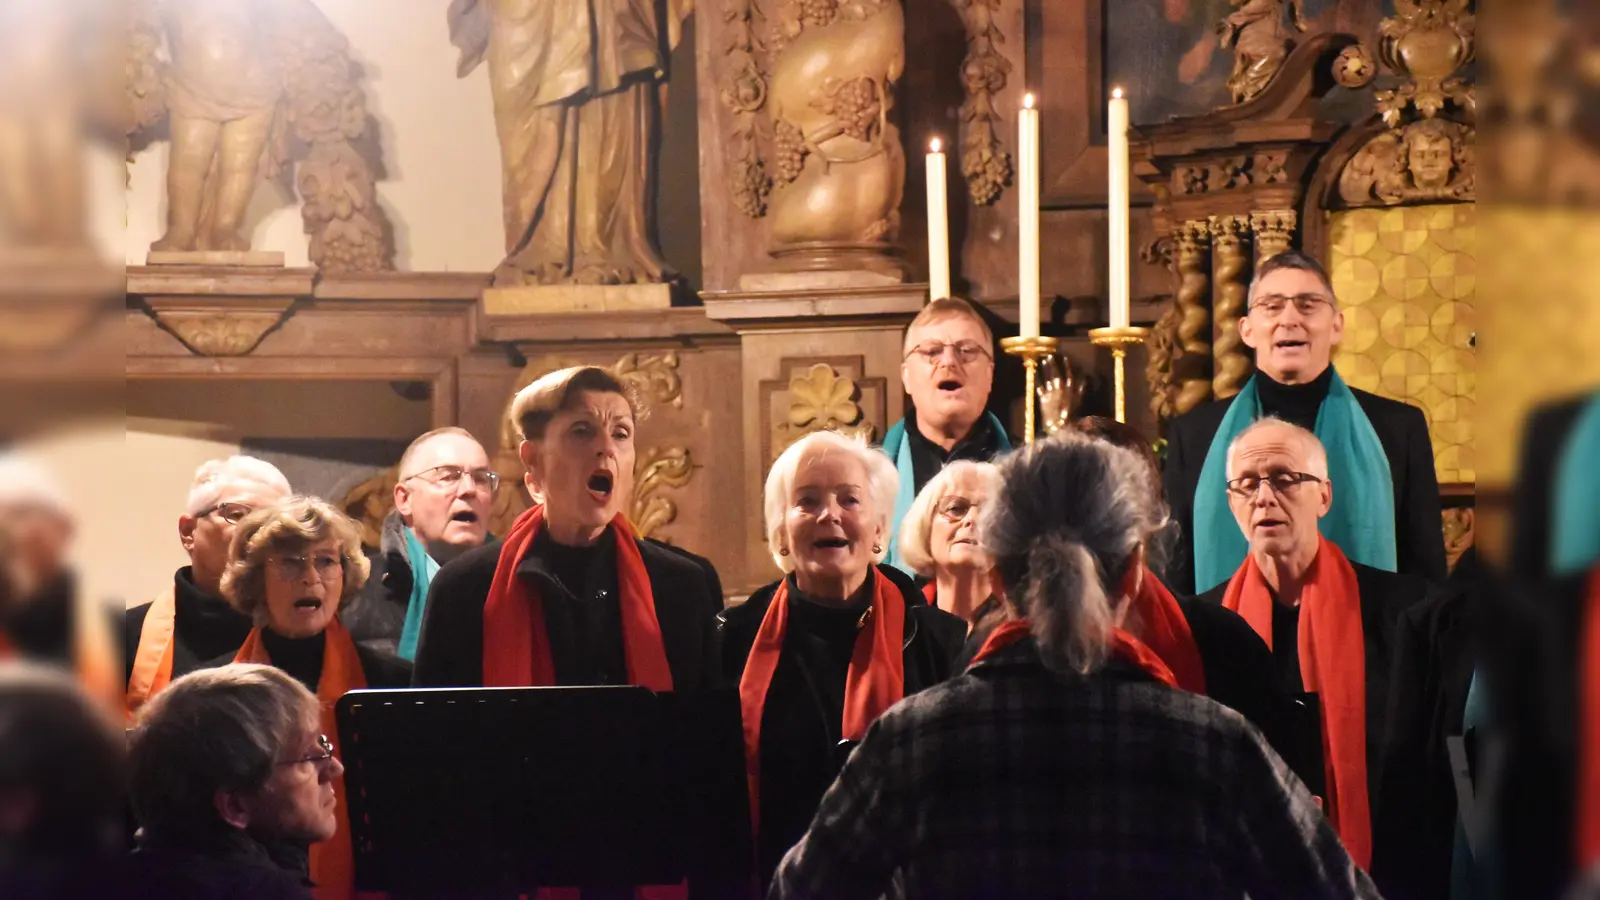
<path fill-rule="evenodd" d="M 912 569 L 894 538 L 917 493 L 955 460 L 987 463 L 1011 448 L 1005 426 L 986 410 L 994 344 L 989 325 L 960 298 L 934 299 L 906 328 L 901 384 L 910 405 L 883 437 L 883 453 L 899 469 L 885 562 L 906 573 Z"/>

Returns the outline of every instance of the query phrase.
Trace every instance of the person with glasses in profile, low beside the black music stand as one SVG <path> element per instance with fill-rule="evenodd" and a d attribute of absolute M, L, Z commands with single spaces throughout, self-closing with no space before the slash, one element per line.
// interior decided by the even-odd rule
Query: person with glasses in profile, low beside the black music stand
<path fill-rule="evenodd" d="M 339 828 L 344 767 L 317 697 L 274 666 L 190 673 L 130 732 L 141 900 L 309 900 L 306 849 Z"/>

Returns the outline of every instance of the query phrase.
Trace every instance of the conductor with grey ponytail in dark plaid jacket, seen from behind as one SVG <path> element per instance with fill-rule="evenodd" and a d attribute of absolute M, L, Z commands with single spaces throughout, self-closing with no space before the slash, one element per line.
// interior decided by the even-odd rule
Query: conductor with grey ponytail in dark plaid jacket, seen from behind
<path fill-rule="evenodd" d="M 1261 733 L 1122 631 L 1146 464 L 1064 432 L 1000 468 L 979 533 L 1011 621 L 878 717 L 770 897 L 1378 897 Z"/>

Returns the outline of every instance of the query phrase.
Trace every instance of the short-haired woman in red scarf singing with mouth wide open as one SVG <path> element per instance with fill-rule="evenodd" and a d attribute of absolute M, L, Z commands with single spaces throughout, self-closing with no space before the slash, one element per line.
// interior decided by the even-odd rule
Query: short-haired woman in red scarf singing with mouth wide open
<path fill-rule="evenodd" d="M 592 365 L 517 392 L 510 421 L 538 503 L 501 543 L 438 570 L 416 684 L 718 684 L 717 570 L 640 538 L 627 519 L 640 418 L 632 386 Z"/>

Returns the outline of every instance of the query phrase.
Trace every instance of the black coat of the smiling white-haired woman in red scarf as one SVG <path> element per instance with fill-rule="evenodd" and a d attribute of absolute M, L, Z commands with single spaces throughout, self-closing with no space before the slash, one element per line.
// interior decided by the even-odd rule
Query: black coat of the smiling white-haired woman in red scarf
<path fill-rule="evenodd" d="M 877 570 L 894 581 L 906 601 L 902 642 L 906 695 L 933 687 L 957 674 L 954 661 L 966 636 L 966 623 L 928 605 L 915 583 L 898 569 L 880 565 Z M 720 617 L 722 666 L 723 677 L 730 684 L 738 684 L 744 676 L 744 665 L 755 645 L 755 634 L 762 628 L 762 618 L 766 617 L 779 583 L 774 581 L 758 589 L 749 601 L 730 607 Z M 795 602 L 792 597 L 794 588 L 790 586 L 790 602 Z M 763 765 L 757 862 L 763 884 L 771 879 L 773 870 L 778 868 L 778 862 L 789 847 L 805 834 L 818 804 L 822 801 L 822 793 L 843 764 L 843 754 L 838 748 L 843 706 L 826 701 L 816 689 L 830 676 L 837 679 L 838 673 L 814 671 L 821 663 L 818 653 L 806 652 L 808 649 L 792 637 L 794 633 L 784 636 L 784 650 L 768 689 L 768 705 L 762 725 Z M 800 701 L 787 709 L 774 708 L 771 700 L 781 697 L 810 697 L 813 701 Z M 770 727 L 774 716 L 787 717 L 781 732 L 792 745 L 784 748 L 782 757 L 792 770 L 774 770 L 768 764 L 773 757 L 768 738 L 779 730 Z"/>

